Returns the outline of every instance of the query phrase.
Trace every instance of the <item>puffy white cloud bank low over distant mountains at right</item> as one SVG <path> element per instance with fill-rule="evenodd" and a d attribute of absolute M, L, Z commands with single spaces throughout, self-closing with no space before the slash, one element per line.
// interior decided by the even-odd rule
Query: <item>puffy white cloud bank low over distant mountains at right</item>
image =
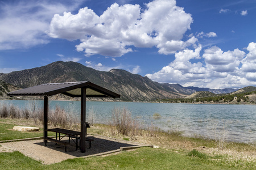
<path fill-rule="evenodd" d="M 247 54 L 239 49 L 224 52 L 217 46 L 203 52 L 201 49 L 199 44 L 195 50 L 177 52 L 168 66 L 146 76 L 158 82 L 180 83 L 183 86 L 237 88 L 256 85 L 255 42 L 247 46 Z"/>

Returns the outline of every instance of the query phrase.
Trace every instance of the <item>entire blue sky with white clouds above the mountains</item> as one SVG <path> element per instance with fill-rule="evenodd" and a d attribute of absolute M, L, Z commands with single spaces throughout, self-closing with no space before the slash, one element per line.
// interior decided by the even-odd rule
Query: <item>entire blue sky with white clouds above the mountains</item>
<path fill-rule="evenodd" d="M 256 1 L 1 1 L 0 73 L 55 61 L 160 83 L 256 86 Z"/>

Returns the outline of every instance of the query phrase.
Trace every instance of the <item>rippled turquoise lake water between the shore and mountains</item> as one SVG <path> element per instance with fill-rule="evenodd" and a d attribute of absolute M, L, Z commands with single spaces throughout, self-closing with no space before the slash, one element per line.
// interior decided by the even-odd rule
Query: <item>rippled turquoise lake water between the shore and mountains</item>
<path fill-rule="evenodd" d="M 36 101 L 43 108 L 43 101 Z M 5 100 L 1 103 L 28 107 L 29 101 Z M 49 101 L 49 108 L 56 105 L 80 117 L 80 101 Z M 234 142 L 256 142 L 256 105 L 224 104 L 168 104 L 87 101 L 86 113 L 94 111 L 96 123 L 108 124 L 114 108 L 127 108 L 142 128 L 154 125 L 162 130 L 179 130 L 184 135 Z M 155 119 L 154 113 L 160 118 Z"/>

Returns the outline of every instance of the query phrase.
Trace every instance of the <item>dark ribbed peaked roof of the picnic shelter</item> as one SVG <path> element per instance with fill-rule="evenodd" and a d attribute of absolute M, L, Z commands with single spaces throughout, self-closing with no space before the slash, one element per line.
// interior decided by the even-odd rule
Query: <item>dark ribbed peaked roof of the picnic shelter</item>
<path fill-rule="evenodd" d="M 68 83 L 49 83 L 39 86 L 28 87 L 22 90 L 9 92 L 9 96 L 52 96 L 64 94 L 71 97 L 81 97 L 81 88 L 86 88 L 86 97 L 112 97 L 120 95 L 100 87 L 91 82 L 68 82 Z"/>

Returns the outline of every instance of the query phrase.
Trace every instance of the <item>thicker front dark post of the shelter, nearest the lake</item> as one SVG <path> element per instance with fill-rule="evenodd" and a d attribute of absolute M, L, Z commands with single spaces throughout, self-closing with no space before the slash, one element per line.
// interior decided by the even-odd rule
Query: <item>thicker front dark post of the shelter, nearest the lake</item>
<path fill-rule="evenodd" d="M 80 135 L 80 150 L 85 152 L 85 136 L 86 136 L 86 88 L 81 88 L 81 135 Z"/>

